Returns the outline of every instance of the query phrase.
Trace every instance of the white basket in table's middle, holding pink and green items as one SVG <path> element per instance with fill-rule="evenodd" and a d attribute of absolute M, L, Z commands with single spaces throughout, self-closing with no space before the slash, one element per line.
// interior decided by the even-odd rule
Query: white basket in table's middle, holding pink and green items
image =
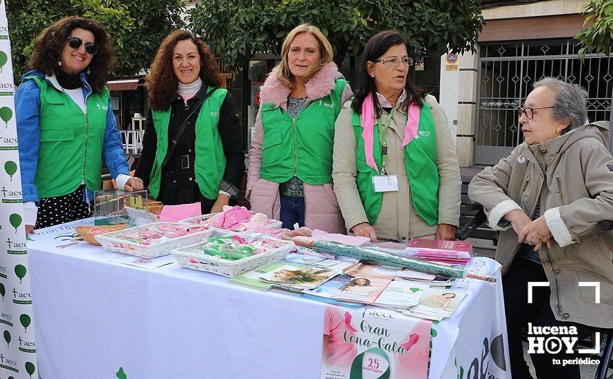
<path fill-rule="evenodd" d="M 241 234 L 238 234 L 239 236 Z M 251 236 L 262 236 L 262 238 L 270 238 L 264 234 L 251 234 Z M 208 238 L 207 238 L 208 239 Z M 185 247 L 179 247 L 172 250 L 172 256 L 176 259 L 177 263 L 181 267 L 188 269 L 197 269 L 204 272 L 212 272 L 214 274 L 220 274 L 231 278 L 232 276 L 247 272 L 251 269 L 268 265 L 276 260 L 284 259 L 289 252 L 293 249 L 293 243 L 285 240 L 277 240 L 283 244 L 283 247 L 278 249 L 272 249 L 269 252 L 256 254 L 253 256 L 247 256 L 238 260 L 225 260 L 218 256 L 208 256 L 206 254 L 200 254 L 193 252 L 192 249 L 199 247 L 207 241 L 201 241 L 194 245 Z"/>

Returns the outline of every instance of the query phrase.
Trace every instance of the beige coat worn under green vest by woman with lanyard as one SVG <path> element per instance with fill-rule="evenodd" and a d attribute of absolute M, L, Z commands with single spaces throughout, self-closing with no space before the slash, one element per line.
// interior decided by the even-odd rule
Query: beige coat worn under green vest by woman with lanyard
<path fill-rule="evenodd" d="M 399 101 L 406 101 L 403 94 Z M 455 143 L 447 124 L 447 117 L 434 96 L 426 96 L 424 106 L 429 106 L 436 128 L 436 164 L 439 170 L 439 223 L 457 226 L 459 223 L 461 180 Z M 355 149 L 357 142 L 351 125 L 351 102 L 343 105 L 335 123 L 332 178 L 334 192 L 349 230 L 359 223 L 368 223 L 364 206 L 357 192 L 355 176 Z M 387 113 L 383 111 L 385 120 Z M 411 187 L 404 167 L 404 127 L 406 112 L 402 107 L 394 113 L 386 131 L 388 161 L 386 172 L 396 175 L 399 191 L 384 192 L 379 216 L 375 225 L 377 238 L 408 242 L 411 238 L 435 234 L 437 225 L 430 226 L 418 216 L 411 203 Z M 425 138 L 425 137 L 424 137 Z M 424 178 L 428 180 L 428 178 Z"/>

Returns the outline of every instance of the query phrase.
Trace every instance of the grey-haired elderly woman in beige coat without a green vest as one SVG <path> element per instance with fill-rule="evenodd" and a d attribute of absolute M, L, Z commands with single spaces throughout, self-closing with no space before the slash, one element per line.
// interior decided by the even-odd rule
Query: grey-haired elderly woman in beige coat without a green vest
<path fill-rule="evenodd" d="M 607 168 L 613 158 L 605 147 L 607 123 L 584 125 L 586 96 L 557 79 L 534 83 L 519 108 L 526 141 L 475 176 L 468 189 L 490 227 L 501 230 L 496 259 L 503 265 L 514 378 L 531 378 L 520 337 L 529 323 L 529 337 L 537 326 L 613 327 L 613 234 L 598 225 L 613 216 Z M 532 288 L 530 304 L 529 282 L 549 283 Z M 558 337 L 576 337 L 567 331 Z M 539 379 L 581 377 L 577 365 L 552 364 L 572 354 L 530 357 Z"/>

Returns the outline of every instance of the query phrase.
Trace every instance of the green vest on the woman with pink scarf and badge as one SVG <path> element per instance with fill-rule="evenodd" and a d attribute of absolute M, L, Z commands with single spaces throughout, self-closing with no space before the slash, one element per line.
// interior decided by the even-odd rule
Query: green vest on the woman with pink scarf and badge
<path fill-rule="evenodd" d="M 360 114 L 353 113 L 351 125 L 353 125 L 355 141 L 357 142 L 355 150 L 357 190 L 360 192 L 368 223 L 374 225 L 383 201 L 383 193 L 375 192 L 373 189 L 372 178 L 379 173 L 366 164 Z M 373 158 L 375 158 L 377 167 L 381 167 L 382 152 L 379 130 L 376 126 L 373 129 Z M 404 167 L 411 187 L 411 203 L 415 212 L 428 225 L 437 225 L 439 222 L 439 172 L 436 165 L 436 134 L 432 112 L 425 103 L 419 112 L 417 136 L 419 138 L 413 139 L 404 147 Z M 399 178 L 402 178 L 402 176 Z"/>

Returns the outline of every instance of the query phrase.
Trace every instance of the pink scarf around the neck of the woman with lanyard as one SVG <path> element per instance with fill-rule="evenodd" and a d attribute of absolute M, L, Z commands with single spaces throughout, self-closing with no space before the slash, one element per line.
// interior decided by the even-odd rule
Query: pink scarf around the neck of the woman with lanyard
<path fill-rule="evenodd" d="M 366 156 L 366 164 L 373 167 L 377 172 L 377 163 L 373 158 L 373 139 L 375 129 L 375 105 L 373 103 L 373 93 L 369 93 L 362 103 L 362 114 L 360 115 L 360 121 L 362 122 L 362 139 L 364 139 L 364 155 Z M 404 148 L 408 143 L 413 141 L 417 137 L 417 130 L 419 129 L 419 107 L 415 104 L 408 106 L 408 118 L 406 119 L 406 126 L 404 127 L 404 139 L 402 140 L 402 147 Z"/>

